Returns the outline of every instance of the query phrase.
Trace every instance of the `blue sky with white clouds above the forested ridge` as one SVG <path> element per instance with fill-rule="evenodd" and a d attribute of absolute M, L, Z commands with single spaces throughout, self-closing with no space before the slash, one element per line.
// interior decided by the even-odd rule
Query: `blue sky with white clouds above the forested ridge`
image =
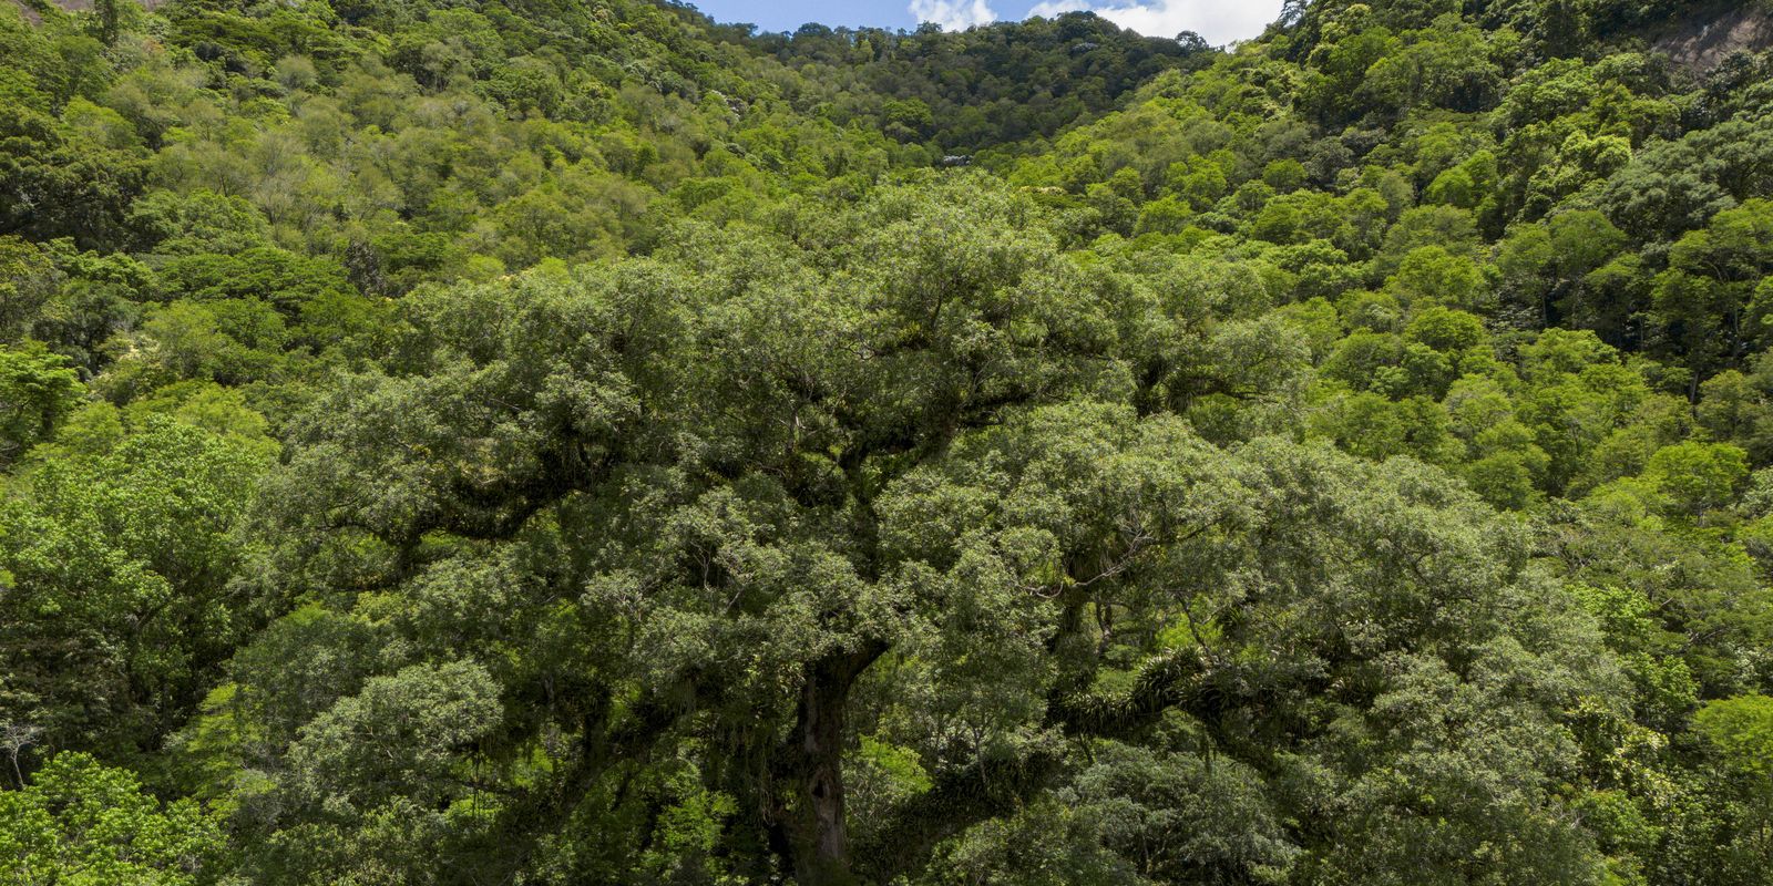
<path fill-rule="evenodd" d="M 1193 30 L 1209 43 L 1255 37 L 1280 14 L 1280 0 L 690 0 L 718 21 L 750 21 L 764 30 L 821 25 L 913 28 L 936 21 L 956 30 L 988 21 L 1094 9 L 1121 27 L 1151 37 Z"/>

